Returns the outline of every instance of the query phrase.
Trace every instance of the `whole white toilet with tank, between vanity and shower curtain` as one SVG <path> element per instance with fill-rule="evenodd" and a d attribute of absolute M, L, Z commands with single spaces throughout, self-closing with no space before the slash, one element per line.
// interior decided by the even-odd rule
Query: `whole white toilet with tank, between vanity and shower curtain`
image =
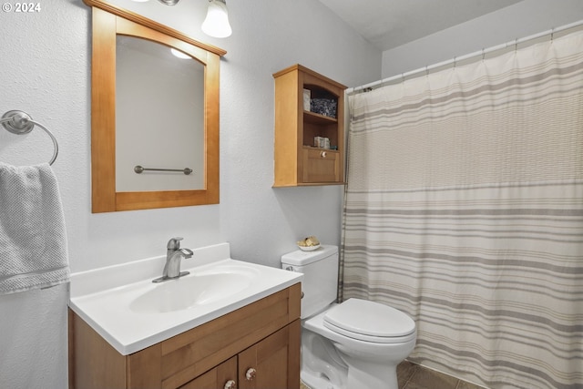
<path fill-rule="evenodd" d="M 379 302 L 335 303 L 336 246 L 290 252 L 281 267 L 303 273 L 302 381 L 312 389 L 398 389 L 396 366 L 417 336 L 413 319 Z"/>

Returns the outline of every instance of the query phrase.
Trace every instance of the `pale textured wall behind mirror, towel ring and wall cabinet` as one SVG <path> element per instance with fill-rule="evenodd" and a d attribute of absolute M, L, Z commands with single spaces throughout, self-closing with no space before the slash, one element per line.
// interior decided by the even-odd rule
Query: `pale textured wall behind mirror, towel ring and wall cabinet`
<path fill-rule="evenodd" d="M 25 110 L 58 138 L 53 168 L 73 271 L 159 256 L 177 235 L 190 248 L 230 241 L 233 258 L 272 266 L 304 235 L 340 241 L 342 188 L 271 189 L 271 74 L 301 63 L 353 87 L 380 77 L 381 53 L 312 0 L 230 2 L 233 36 L 210 39 L 198 28 L 206 3 L 185 0 L 174 9 L 190 16 L 172 19 L 228 51 L 220 72 L 220 204 L 107 214 L 90 212 L 90 10 L 81 0 L 42 0 L 36 14 L 0 11 L 0 115 Z M 51 147 L 42 130 L 15 136 L 0 128 L 6 163 L 45 162 Z M 0 296 L 0 387 L 66 387 L 66 300 L 64 286 Z"/>

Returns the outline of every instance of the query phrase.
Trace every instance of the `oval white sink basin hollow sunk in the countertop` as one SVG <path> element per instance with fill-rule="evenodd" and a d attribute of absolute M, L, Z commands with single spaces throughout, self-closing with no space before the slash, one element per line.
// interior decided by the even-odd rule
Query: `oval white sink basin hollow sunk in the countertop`
<path fill-rule="evenodd" d="M 248 288 L 258 275 L 259 271 L 242 266 L 221 266 L 191 273 L 153 284 L 152 289 L 129 303 L 129 309 L 138 313 L 164 313 L 219 302 Z"/>

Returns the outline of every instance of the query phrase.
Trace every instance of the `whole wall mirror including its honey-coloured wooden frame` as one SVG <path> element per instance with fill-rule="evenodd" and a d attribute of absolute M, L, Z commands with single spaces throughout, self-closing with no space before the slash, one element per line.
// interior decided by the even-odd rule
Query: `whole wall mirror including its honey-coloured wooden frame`
<path fill-rule="evenodd" d="M 92 211 L 219 203 L 226 52 L 105 1 L 84 1 L 93 7 Z M 169 56 L 170 48 L 187 59 Z M 148 86 L 133 79 L 139 75 Z"/>

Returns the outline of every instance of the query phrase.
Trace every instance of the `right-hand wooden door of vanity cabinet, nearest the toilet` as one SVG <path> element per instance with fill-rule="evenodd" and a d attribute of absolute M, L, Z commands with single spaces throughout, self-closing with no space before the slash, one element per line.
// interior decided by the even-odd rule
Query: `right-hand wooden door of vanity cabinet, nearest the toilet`
<path fill-rule="evenodd" d="M 239 354 L 239 389 L 299 388 L 299 320 Z"/>

